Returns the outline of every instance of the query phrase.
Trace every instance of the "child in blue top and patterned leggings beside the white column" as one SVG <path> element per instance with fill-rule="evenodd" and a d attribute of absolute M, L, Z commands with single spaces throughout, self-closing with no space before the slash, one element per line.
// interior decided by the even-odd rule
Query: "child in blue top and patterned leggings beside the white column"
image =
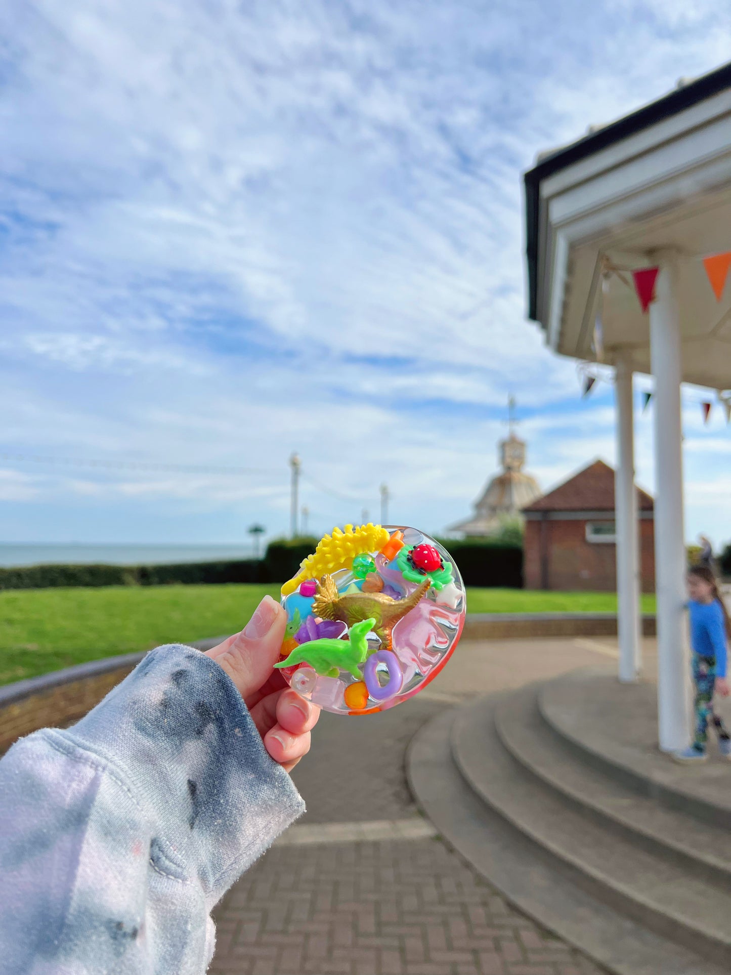
<path fill-rule="evenodd" d="M 695 737 L 690 748 L 675 752 L 673 759 L 681 762 L 707 760 L 706 741 L 711 720 L 718 735 L 718 750 L 724 759 L 731 761 L 731 737 L 724 723 L 713 713 L 713 692 L 721 697 L 727 697 L 729 693 L 726 638 L 731 635 L 731 620 L 707 565 L 694 565 L 688 572 L 688 595 L 696 687 Z"/>

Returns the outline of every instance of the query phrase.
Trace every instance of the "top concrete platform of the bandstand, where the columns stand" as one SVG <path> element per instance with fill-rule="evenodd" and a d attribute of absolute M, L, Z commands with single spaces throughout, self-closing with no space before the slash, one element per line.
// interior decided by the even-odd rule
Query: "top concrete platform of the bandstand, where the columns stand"
<path fill-rule="evenodd" d="M 731 765 L 677 765 L 658 751 L 657 689 L 581 670 L 540 688 L 543 719 L 577 756 L 618 782 L 711 826 L 731 829 Z M 710 736 L 712 737 L 712 735 Z"/>

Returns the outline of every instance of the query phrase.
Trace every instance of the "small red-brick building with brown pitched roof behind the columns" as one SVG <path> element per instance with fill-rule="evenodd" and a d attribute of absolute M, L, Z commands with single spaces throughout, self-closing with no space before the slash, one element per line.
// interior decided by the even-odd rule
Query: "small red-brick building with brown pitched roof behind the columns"
<path fill-rule="evenodd" d="M 642 592 L 655 588 L 654 505 L 639 487 Z M 614 591 L 614 471 L 596 460 L 523 508 L 526 589 Z"/>

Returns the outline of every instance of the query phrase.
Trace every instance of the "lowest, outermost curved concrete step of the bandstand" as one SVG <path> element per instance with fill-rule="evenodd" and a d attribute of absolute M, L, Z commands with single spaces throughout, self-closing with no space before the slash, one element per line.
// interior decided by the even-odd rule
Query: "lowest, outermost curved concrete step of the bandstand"
<path fill-rule="evenodd" d="M 411 741 L 406 771 L 414 799 L 442 838 L 520 911 L 576 946 L 613 975 L 722 975 L 699 958 L 614 911 L 555 858 L 496 813 L 468 786 L 451 753 L 457 710 L 424 724 Z M 499 747 L 494 740 L 485 748 Z"/>

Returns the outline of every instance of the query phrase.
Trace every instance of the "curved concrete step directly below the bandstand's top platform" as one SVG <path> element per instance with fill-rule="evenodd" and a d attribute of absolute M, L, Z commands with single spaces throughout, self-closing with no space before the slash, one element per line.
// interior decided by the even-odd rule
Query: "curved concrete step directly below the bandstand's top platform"
<path fill-rule="evenodd" d="M 672 858 L 694 876 L 731 889 L 731 847 L 719 826 L 660 805 L 583 761 L 540 714 L 537 688 L 525 687 L 495 707 L 495 727 L 503 746 L 520 765 L 606 829 L 641 838 L 646 849 Z M 729 769 L 731 772 L 731 769 Z"/>

